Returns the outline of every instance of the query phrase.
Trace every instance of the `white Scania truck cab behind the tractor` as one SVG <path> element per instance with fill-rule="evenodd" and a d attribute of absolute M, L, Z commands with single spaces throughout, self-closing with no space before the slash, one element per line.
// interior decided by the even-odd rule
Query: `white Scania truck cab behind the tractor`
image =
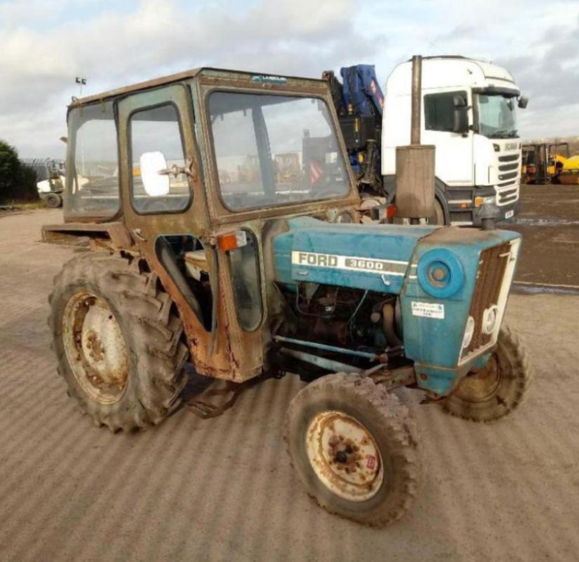
<path fill-rule="evenodd" d="M 445 223 L 480 226 L 482 218 L 513 216 L 519 206 L 521 139 L 516 106 L 526 98 L 497 65 L 459 56 L 424 57 L 421 142 L 436 146 L 437 205 Z M 396 147 L 410 144 L 412 64 L 386 82 L 382 175 L 395 194 Z"/>

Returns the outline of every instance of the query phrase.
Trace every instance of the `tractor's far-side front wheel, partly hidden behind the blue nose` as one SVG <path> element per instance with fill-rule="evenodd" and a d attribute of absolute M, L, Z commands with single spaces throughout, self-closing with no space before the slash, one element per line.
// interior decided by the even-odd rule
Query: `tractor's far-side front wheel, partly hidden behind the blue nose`
<path fill-rule="evenodd" d="M 497 349 L 486 366 L 467 374 L 441 403 L 445 412 L 471 421 L 494 421 L 521 405 L 532 380 L 518 336 L 503 326 Z"/>

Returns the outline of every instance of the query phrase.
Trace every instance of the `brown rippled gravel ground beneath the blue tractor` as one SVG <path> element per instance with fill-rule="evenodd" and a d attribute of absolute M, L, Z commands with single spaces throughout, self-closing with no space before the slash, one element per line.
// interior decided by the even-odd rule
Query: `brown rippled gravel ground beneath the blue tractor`
<path fill-rule="evenodd" d="M 296 377 L 250 388 L 214 420 L 179 410 L 137 435 L 81 416 L 45 321 L 74 254 L 38 243 L 39 228 L 60 221 L 0 218 L 0 560 L 577 560 L 579 297 L 511 296 L 536 380 L 510 418 L 472 424 L 413 404 L 426 485 L 402 521 L 372 530 L 318 508 L 290 467 Z"/>

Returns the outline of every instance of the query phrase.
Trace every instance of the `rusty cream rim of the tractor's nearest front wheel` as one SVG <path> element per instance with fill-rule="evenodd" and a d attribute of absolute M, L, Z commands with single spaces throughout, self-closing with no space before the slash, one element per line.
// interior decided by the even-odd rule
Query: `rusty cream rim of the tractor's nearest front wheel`
<path fill-rule="evenodd" d="M 307 457 L 328 490 L 349 501 L 374 497 L 384 479 L 372 434 L 343 412 L 321 412 L 306 432 Z"/>

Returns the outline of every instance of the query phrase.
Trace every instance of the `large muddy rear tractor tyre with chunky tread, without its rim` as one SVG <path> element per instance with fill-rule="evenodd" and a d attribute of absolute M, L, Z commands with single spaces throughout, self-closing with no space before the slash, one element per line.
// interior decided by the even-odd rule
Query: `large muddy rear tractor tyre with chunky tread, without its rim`
<path fill-rule="evenodd" d="M 60 363 L 59 372 L 68 383 L 68 392 L 94 420 L 111 431 L 133 431 L 164 420 L 178 405 L 186 384 L 184 370 L 189 350 L 183 340 L 183 326 L 173 301 L 153 273 L 140 271 L 138 260 L 108 252 L 90 252 L 69 260 L 54 280 L 49 325 Z M 130 377 L 138 384 L 115 407 L 94 401 L 75 384 L 61 342 L 61 312 L 65 291 L 71 286 L 88 286 L 116 309 L 119 322 L 130 326 Z M 155 289 L 153 292 L 152 289 Z M 129 342 L 131 345 L 129 345 Z"/>

